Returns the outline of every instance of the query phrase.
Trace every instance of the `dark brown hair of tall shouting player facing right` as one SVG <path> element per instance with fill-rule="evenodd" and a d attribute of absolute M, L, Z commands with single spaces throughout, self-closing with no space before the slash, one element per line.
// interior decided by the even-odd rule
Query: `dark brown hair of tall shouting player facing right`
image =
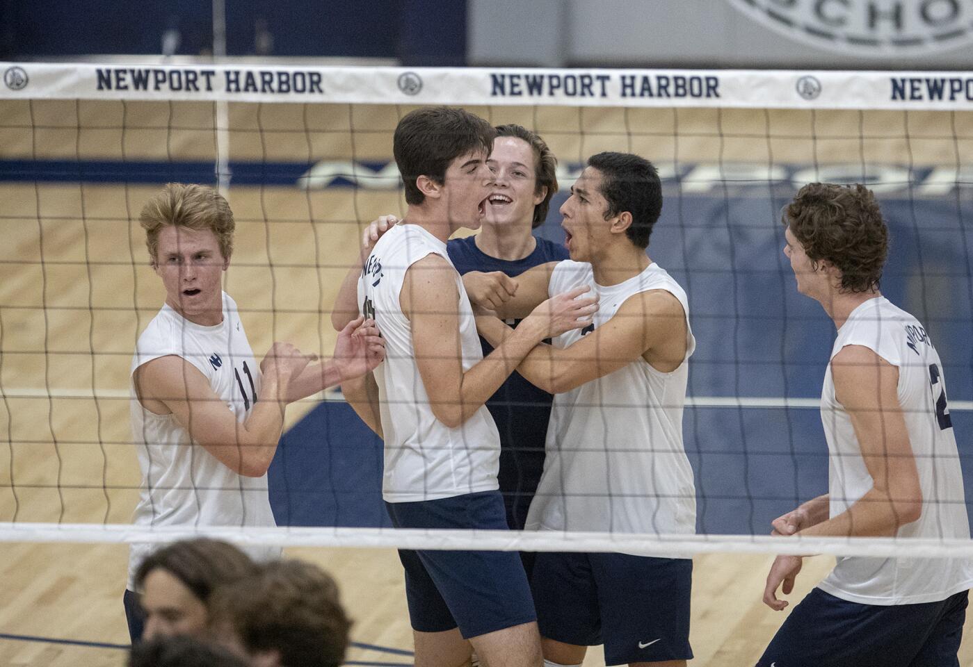
<path fill-rule="evenodd" d="M 425 194 L 415 185 L 419 176 L 443 185 L 446 169 L 455 158 L 473 151 L 489 155 L 495 135 L 489 123 L 465 109 L 424 107 L 406 114 L 392 138 L 406 201 L 421 204 L 425 200 Z"/>

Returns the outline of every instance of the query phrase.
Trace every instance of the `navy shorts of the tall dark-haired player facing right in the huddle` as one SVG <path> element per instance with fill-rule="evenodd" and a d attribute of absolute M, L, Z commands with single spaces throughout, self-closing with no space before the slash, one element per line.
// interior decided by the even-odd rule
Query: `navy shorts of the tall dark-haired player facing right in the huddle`
<path fill-rule="evenodd" d="M 499 491 L 417 503 L 385 503 L 396 528 L 508 530 Z M 464 639 L 537 619 L 515 551 L 399 549 L 409 618 L 418 632 L 459 627 Z"/>

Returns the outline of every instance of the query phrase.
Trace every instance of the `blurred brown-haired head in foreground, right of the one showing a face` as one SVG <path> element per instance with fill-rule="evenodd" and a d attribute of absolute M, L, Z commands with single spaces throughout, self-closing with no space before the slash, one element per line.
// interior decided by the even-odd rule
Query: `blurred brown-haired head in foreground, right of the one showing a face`
<path fill-rule="evenodd" d="M 214 639 L 254 667 L 338 667 L 344 660 L 351 622 L 334 579 L 316 565 L 290 559 L 263 565 L 221 587 L 212 614 Z"/>

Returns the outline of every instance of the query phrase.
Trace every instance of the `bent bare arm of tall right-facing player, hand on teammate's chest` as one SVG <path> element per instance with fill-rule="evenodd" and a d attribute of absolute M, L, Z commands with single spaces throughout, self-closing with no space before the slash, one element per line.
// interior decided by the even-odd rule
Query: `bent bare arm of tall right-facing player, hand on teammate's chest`
<path fill-rule="evenodd" d="M 535 345 L 586 326 L 596 304 L 591 298 L 575 297 L 587 290 L 545 301 L 486 359 L 464 372 L 455 270 L 438 255 L 414 263 L 406 272 L 399 303 L 412 324 L 415 362 L 436 418 L 450 428 L 458 427 L 486 403 Z"/>

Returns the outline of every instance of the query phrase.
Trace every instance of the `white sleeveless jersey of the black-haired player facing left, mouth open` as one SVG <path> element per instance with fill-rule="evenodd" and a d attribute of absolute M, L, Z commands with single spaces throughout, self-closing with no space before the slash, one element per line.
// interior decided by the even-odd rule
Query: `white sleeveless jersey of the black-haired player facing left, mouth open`
<path fill-rule="evenodd" d="M 548 292 L 553 296 L 583 285 L 598 299 L 595 330 L 641 292 L 665 290 L 678 298 L 687 318 L 686 357 L 672 372 L 639 358 L 554 397 L 544 473 L 527 528 L 694 533 L 696 486 L 682 441 L 687 361 L 696 348 L 686 293 L 655 263 L 619 285 L 603 287 L 595 283 L 591 264 L 571 261 L 555 268 Z M 554 345 L 570 347 L 585 334 L 559 335 Z M 610 347 L 604 353 L 611 354 Z"/>

